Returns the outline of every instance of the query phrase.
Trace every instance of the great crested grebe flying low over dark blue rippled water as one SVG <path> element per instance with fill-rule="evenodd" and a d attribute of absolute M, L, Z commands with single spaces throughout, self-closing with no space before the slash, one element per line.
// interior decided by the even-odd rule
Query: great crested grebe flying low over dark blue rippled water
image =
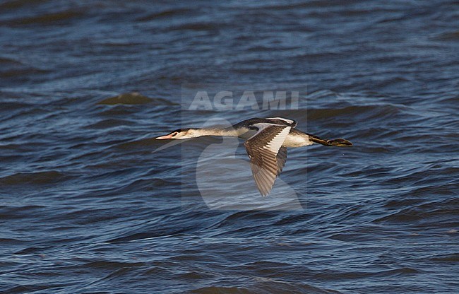
<path fill-rule="evenodd" d="M 282 117 L 246 119 L 227 128 L 177 129 L 157 140 L 190 139 L 200 136 L 232 136 L 245 141 L 252 174 L 262 196 L 269 194 L 287 160 L 287 147 L 320 143 L 324 146 L 352 146 L 345 139 L 326 140 L 295 129 L 297 122 Z"/>

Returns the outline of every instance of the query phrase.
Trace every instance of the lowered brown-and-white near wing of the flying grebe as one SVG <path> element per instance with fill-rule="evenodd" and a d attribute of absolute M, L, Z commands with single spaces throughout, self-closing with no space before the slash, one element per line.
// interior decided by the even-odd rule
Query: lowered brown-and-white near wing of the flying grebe
<path fill-rule="evenodd" d="M 254 124 L 254 127 L 258 128 L 258 132 L 244 145 L 256 186 L 261 195 L 266 196 L 287 160 L 287 148 L 282 147 L 282 143 L 292 127 L 266 123 Z"/>

